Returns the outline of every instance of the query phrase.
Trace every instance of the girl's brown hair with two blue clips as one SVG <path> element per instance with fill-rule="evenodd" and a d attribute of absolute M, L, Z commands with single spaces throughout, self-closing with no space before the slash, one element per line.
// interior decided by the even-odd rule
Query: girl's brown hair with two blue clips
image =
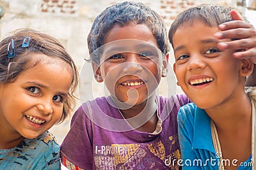
<path fill-rule="evenodd" d="M 26 39 L 27 42 L 29 38 L 29 45 L 22 47 L 24 39 Z M 10 57 L 8 57 L 8 53 Z M 79 73 L 67 50 L 65 50 L 56 38 L 29 28 L 17 29 L 10 32 L 10 34 L 0 42 L 0 83 L 11 83 L 15 81 L 22 72 L 26 71 L 26 69 L 38 64 L 38 62 L 32 64 L 33 66 L 28 64 L 31 57 L 26 57 L 26 55 L 29 53 L 43 53 L 49 57 L 58 57 L 72 67 L 72 85 L 68 92 L 67 100 L 64 102 L 63 113 L 58 123 L 63 122 L 63 120 L 70 115 L 75 104 L 76 97 L 74 96 L 74 92 L 79 83 Z"/>

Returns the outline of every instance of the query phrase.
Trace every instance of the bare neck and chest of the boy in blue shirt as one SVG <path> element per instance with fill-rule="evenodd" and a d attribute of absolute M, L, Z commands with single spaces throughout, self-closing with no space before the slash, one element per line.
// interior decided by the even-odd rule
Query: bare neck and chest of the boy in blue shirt
<path fill-rule="evenodd" d="M 237 159 L 239 165 L 252 153 L 252 104 L 244 94 L 223 105 L 205 111 L 216 125 L 223 159 Z"/>

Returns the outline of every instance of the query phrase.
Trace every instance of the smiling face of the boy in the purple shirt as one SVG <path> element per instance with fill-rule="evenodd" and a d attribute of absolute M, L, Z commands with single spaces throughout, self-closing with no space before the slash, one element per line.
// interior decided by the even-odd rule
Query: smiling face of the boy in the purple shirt
<path fill-rule="evenodd" d="M 128 106 L 141 104 L 154 94 L 167 69 L 157 41 L 144 24 L 116 24 L 105 36 L 97 81 L 104 81 L 110 92 Z"/>

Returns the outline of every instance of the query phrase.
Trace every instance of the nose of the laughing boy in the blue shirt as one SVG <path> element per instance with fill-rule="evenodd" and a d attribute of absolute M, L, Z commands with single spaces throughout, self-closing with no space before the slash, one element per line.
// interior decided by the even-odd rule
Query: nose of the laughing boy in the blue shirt
<path fill-rule="evenodd" d="M 204 69 L 205 62 L 201 55 L 191 55 L 189 59 L 188 71 L 194 71 L 198 69 Z"/>

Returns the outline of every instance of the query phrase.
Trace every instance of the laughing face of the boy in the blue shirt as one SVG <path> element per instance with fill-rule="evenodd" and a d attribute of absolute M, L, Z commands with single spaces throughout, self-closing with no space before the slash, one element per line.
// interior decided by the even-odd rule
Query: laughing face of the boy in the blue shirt
<path fill-rule="evenodd" d="M 210 108 L 239 96 L 244 87 L 246 60 L 234 59 L 232 50 L 220 51 L 213 37 L 217 27 L 207 27 L 201 20 L 186 22 L 173 36 L 178 85 L 200 108 Z M 227 39 L 223 41 L 228 41 Z M 241 76 L 242 75 L 242 76 Z"/>

